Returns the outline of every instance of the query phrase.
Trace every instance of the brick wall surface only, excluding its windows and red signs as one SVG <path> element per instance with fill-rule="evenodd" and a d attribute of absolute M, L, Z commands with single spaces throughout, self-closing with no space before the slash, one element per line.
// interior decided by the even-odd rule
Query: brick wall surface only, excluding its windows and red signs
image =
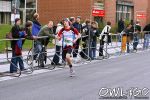
<path fill-rule="evenodd" d="M 91 2 L 92 1 L 92 2 Z M 116 24 L 116 0 L 38 0 L 38 13 L 40 14 L 40 22 L 46 24 L 49 20 L 55 23 L 62 18 L 71 16 L 81 16 L 82 19 L 91 18 L 91 10 L 94 2 L 104 2 L 105 17 L 104 21 L 111 21 L 112 25 Z M 150 22 L 150 0 L 123 0 L 130 1 L 134 4 L 134 20 L 136 20 L 136 12 L 144 11 L 147 18 L 139 19 L 142 26 Z"/>

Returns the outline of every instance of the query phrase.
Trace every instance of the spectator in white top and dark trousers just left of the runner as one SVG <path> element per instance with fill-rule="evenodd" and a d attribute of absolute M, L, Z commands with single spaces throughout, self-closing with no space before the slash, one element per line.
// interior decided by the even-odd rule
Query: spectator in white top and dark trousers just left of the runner
<path fill-rule="evenodd" d="M 57 28 L 56 28 L 56 35 L 59 33 L 59 31 L 63 28 L 63 25 L 62 25 L 62 22 L 58 23 L 57 24 Z M 53 57 L 53 61 L 51 63 L 51 65 L 61 65 L 59 63 L 59 56 L 60 56 L 60 52 L 61 52 L 61 47 L 62 47 L 62 40 L 58 40 L 56 39 L 55 40 L 55 43 L 56 43 L 56 49 L 55 49 L 55 55 Z M 63 58 L 62 58 L 63 59 Z M 64 59 L 63 59 L 64 60 Z"/>

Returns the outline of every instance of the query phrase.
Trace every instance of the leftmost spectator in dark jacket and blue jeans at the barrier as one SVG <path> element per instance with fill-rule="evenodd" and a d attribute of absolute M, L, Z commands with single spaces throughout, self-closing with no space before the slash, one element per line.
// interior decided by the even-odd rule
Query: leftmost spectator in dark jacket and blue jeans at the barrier
<path fill-rule="evenodd" d="M 11 29 L 12 38 L 19 39 L 19 40 L 12 40 L 11 47 L 12 47 L 12 59 L 10 64 L 10 73 L 17 72 L 17 67 L 19 63 L 20 70 L 24 70 L 24 64 L 22 60 L 22 39 L 25 37 L 25 32 L 23 32 L 20 28 L 21 19 L 15 19 L 15 25 Z"/>

